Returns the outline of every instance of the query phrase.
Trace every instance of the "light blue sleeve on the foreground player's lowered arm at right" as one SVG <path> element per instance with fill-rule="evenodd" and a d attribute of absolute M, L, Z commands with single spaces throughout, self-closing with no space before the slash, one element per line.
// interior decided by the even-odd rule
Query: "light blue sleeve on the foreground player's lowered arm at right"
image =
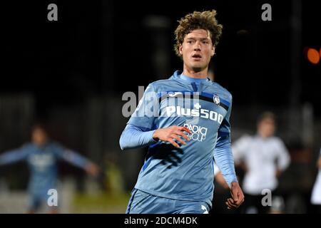
<path fill-rule="evenodd" d="M 225 115 L 225 118 L 222 121 L 220 128 L 218 129 L 218 140 L 216 142 L 214 150 L 215 162 L 222 172 L 225 181 L 228 183 L 228 186 L 230 186 L 232 182 L 238 182 L 238 179 L 235 175 L 235 167 L 230 140 L 231 109 L 232 102 L 230 103 L 230 107 L 228 108 L 228 113 Z"/>

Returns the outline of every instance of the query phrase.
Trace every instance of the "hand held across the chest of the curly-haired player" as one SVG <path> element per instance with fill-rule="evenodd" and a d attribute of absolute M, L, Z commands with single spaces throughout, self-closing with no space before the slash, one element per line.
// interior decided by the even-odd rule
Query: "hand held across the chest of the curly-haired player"
<path fill-rule="evenodd" d="M 179 148 L 180 146 L 174 140 L 177 140 L 183 145 L 185 145 L 186 142 L 182 138 L 188 141 L 190 140 L 190 138 L 188 138 L 188 135 L 185 135 L 184 132 L 191 134 L 190 130 L 185 127 L 170 126 L 168 128 L 161 128 L 154 132 L 153 139 L 161 140 L 163 142 L 170 142 L 174 147 Z"/>

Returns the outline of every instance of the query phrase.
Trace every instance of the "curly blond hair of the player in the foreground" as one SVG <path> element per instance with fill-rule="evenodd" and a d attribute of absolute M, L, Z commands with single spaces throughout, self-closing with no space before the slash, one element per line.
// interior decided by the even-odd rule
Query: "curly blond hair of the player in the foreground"
<path fill-rule="evenodd" d="M 205 29 L 210 31 L 210 39 L 214 46 L 218 45 L 220 36 L 222 35 L 223 26 L 218 24 L 215 19 L 216 11 L 194 11 L 193 14 L 187 14 L 178 21 L 178 27 L 175 29 L 175 45 L 174 51 L 181 58 L 179 47 L 184 41 L 184 37 L 195 29 Z"/>

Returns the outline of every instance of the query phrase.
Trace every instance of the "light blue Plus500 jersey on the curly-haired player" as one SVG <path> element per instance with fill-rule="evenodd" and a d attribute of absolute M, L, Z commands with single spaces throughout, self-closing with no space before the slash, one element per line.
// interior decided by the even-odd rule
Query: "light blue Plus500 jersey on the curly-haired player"
<path fill-rule="evenodd" d="M 135 188 L 211 205 L 213 158 L 229 185 L 238 182 L 230 146 L 231 108 L 228 90 L 209 79 L 188 80 L 175 71 L 168 80 L 149 84 L 120 139 L 122 149 L 149 145 Z M 176 148 L 153 140 L 156 129 L 173 125 L 192 132 L 186 145 Z M 130 131 L 134 128 L 139 129 L 135 135 Z"/>

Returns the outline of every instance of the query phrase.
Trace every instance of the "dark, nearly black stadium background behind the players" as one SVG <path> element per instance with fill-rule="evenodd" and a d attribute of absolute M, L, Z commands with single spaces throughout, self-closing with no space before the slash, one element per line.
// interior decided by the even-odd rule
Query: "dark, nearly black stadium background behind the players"
<path fill-rule="evenodd" d="M 47 20 L 51 3 L 58 6 L 58 21 Z M 261 19 L 265 3 L 272 6 L 272 21 Z M 295 6 L 302 14 L 293 19 Z M 274 111 L 294 166 L 284 177 L 284 190 L 307 200 L 321 146 L 321 63 L 310 63 L 304 52 L 321 48 L 317 6 L 317 1 L 7 1 L 1 4 L 0 96 L 6 105 L 0 110 L 0 152 L 29 140 L 31 123 L 45 120 L 53 138 L 102 167 L 103 159 L 113 157 L 124 189 L 131 190 L 144 153 L 121 153 L 118 146 L 127 120 L 121 97 L 181 69 L 173 51 L 177 20 L 194 10 L 216 9 L 224 28 L 212 66 L 215 81 L 233 94 L 233 137 L 253 133 L 257 115 Z M 302 135 L 304 121 L 312 128 Z M 26 187 L 27 172 L 19 169 L 26 167 L 0 167 L 12 190 Z M 62 177 L 69 173 L 83 189 L 83 172 L 61 165 Z M 297 185 L 292 175 L 299 175 Z"/>

